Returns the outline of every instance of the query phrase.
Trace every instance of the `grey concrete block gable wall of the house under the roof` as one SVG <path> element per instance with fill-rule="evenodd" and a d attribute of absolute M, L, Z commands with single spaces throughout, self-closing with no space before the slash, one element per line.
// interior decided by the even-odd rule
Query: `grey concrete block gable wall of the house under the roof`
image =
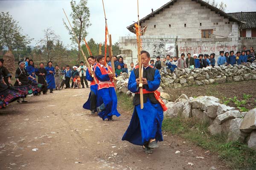
<path fill-rule="evenodd" d="M 200 23 L 202 26 L 200 26 Z M 218 23 L 218 25 L 217 25 Z M 169 27 L 169 24 L 171 27 Z M 186 24 L 186 27 L 184 27 Z M 205 6 L 192 0 L 177 0 L 170 8 L 156 14 L 142 26 L 148 26 L 145 35 L 174 35 L 180 38 L 201 38 L 202 29 L 213 29 L 213 34 L 228 37 L 231 32 L 237 35 L 238 26 L 227 18 L 215 14 Z M 154 25 L 156 28 L 154 28 Z M 237 30 L 235 30 L 237 29 Z M 215 36 L 213 36 L 215 37 Z M 216 38 L 221 38 L 216 36 Z"/>

